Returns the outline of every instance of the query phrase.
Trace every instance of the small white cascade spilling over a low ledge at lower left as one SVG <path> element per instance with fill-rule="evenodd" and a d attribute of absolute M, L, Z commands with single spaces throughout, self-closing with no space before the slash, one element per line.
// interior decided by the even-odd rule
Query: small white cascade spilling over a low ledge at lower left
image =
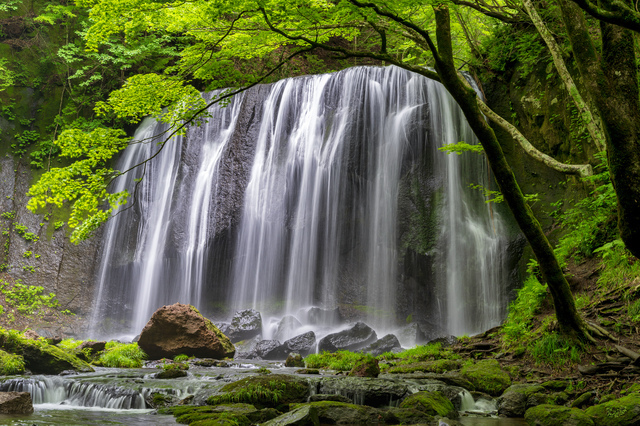
<path fill-rule="evenodd" d="M 60 377 L 34 376 L 0 383 L 2 392 L 29 392 L 35 405 L 58 404 L 119 410 L 146 408 L 140 392 Z"/>

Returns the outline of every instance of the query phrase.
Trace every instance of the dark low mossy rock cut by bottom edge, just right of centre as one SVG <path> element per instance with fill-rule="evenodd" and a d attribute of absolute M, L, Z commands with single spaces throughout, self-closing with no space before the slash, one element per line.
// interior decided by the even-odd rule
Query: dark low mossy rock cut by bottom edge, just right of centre
<path fill-rule="evenodd" d="M 309 406 L 316 410 L 320 424 L 372 425 L 391 424 L 387 422 L 389 414 L 385 410 L 336 401 L 318 401 L 306 404 L 292 404 L 291 409 Z"/>

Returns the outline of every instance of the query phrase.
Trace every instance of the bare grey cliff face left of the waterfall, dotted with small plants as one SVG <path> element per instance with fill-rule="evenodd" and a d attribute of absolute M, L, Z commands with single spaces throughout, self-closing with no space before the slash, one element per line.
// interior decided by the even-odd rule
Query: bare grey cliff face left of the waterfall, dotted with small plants
<path fill-rule="evenodd" d="M 66 226 L 55 229 L 54 216 L 28 211 L 26 192 L 32 179 L 32 170 L 13 156 L 0 158 L 2 272 L 26 285 L 42 286 L 45 293 L 56 294 L 62 309 L 86 316 L 93 302 L 99 236 L 74 245 Z"/>

